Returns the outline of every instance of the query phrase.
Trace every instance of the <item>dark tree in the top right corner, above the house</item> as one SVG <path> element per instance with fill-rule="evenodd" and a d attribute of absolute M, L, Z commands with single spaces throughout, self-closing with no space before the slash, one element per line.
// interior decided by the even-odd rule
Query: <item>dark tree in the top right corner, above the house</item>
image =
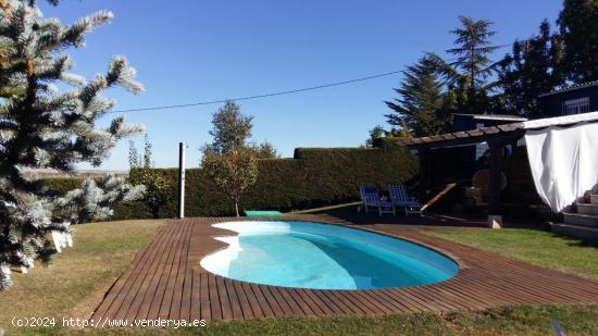
<path fill-rule="evenodd" d="M 598 80 L 598 0 L 564 0 L 557 22 L 569 79 Z"/>

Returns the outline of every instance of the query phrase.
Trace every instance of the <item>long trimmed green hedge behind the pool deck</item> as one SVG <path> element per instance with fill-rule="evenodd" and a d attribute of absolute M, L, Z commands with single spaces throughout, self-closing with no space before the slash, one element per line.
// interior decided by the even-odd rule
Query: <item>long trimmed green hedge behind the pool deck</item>
<path fill-rule="evenodd" d="M 169 200 L 160 216 L 176 215 L 176 169 L 158 169 L 166 181 Z M 292 159 L 264 159 L 259 162 L 258 182 L 241 197 L 241 209 L 289 211 L 359 199 L 359 185 L 406 182 L 418 172 L 418 161 L 402 147 L 382 148 L 298 148 Z M 68 181 L 72 179 L 72 181 Z M 75 178 L 48 178 L 51 188 L 76 187 Z M 115 219 L 151 217 L 139 202 L 114 207 Z M 201 169 L 186 171 L 186 216 L 233 214 L 231 200 L 209 181 Z"/>

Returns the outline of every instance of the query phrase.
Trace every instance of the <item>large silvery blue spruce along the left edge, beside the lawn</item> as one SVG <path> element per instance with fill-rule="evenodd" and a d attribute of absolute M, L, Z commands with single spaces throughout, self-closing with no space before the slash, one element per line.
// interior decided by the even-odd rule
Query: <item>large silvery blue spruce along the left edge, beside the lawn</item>
<path fill-rule="evenodd" d="M 54 195 L 28 179 L 23 169 L 73 173 L 78 162 L 101 164 L 117 140 L 140 128 L 122 116 L 98 127 L 97 120 L 114 105 L 100 94 L 114 86 L 138 94 L 142 87 L 123 57 L 91 80 L 68 73 L 73 63 L 65 50 L 84 46 L 84 36 L 112 13 L 101 11 L 64 26 L 43 17 L 34 0 L 0 0 L 0 8 L 5 48 L 0 91 L 12 92 L 0 101 L 0 288 L 5 288 L 10 266 L 29 267 L 54 252 L 50 231 L 66 232 L 71 223 L 110 214 L 105 207 L 111 201 L 139 196 L 142 188 L 115 178 L 88 181 L 80 190 Z"/>

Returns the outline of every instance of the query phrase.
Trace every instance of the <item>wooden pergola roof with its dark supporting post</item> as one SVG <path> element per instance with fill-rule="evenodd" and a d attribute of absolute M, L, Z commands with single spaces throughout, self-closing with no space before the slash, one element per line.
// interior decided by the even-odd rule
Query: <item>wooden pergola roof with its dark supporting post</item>
<path fill-rule="evenodd" d="M 429 137 L 398 139 L 399 145 L 406 146 L 419 154 L 429 149 L 471 146 L 486 142 L 490 150 L 490 199 L 488 212 L 488 226 L 499 228 L 502 226 L 500 203 L 500 179 L 503 148 L 514 145 L 527 130 L 543 129 L 546 127 L 570 127 L 580 123 L 598 122 L 598 112 L 574 114 L 558 117 L 538 119 L 526 122 L 509 123 L 491 127 L 483 127 L 465 132 L 454 132 Z"/>

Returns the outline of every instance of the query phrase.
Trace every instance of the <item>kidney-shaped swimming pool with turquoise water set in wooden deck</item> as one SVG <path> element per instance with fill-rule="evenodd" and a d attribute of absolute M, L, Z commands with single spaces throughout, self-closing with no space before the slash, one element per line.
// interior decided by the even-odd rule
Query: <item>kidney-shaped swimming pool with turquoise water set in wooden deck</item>
<path fill-rule="evenodd" d="M 373 289 L 427 285 L 454 276 L 444 254 L 362 229 L 313 222 L 227 222 L 237 232 L 201 260 L 214 274 L 244 282 L 313 289 Z"/>

